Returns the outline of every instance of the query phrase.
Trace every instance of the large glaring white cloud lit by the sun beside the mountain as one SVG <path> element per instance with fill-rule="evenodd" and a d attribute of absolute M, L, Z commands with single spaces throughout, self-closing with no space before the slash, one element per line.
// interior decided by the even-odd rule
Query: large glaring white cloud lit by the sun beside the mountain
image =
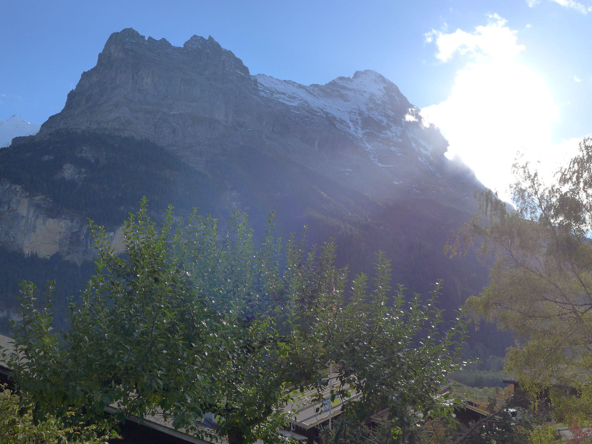
<path fill-rule="evenodd" d="M 552 142 L 559 107 L 545 79 L 520 63 L 525 46 L 506 20 L 494 14 L 471 33 L 429 34 L 442 62 L 457 53 L 468 56 L 449 97 L 421 111 L 424 121 L 439 127 L 448 139 L 448 157 L 461 157 L 486 186 L 508 198 L 511 164 L 518 152 L 548 171 L 556 168 L 558 157 L 575 152 L 568 150 L 572 141 L 559 146 Z"/>

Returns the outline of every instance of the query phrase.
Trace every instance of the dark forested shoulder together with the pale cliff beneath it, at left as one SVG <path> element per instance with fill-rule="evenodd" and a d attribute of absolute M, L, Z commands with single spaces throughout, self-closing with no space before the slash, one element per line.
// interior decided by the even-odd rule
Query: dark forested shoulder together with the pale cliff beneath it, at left
<path fill-rule="evenodd" d="M 121 250 L 118 226 L 144 195 L 155 197 L 162 213 L 202 188 L 198 173 L 186 176 L 188 166 L 153 144 L 81 133 L 18 140 L 0 152 L 0 242 L 25 255 L 91 259 L 87 218 L 106 225 Z M 128 170 L 140 157 L 141 165 Z"/>

